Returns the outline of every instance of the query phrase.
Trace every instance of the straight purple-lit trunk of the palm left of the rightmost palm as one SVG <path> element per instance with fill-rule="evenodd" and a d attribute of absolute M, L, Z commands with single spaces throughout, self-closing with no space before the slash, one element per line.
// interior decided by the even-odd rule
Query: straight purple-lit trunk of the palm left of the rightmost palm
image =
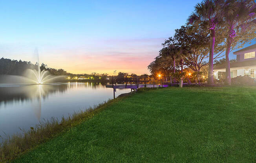
<path fill-rule="evenodd" d="M 214 44 L 215 44 L 215 30 L 210 29 L 210 54 L 209 54 L 209 71 L 208 71 L 208 84 L 214 84 L 213 78 L 213 55 L 214 55 Z"/>

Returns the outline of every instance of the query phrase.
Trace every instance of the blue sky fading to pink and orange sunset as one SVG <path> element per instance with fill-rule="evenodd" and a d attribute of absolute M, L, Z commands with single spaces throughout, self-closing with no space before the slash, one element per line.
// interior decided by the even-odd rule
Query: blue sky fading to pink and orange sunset
<path fill-rule="evenodd" d="M 0 58 L 71 73 L 143 74 L 201 0 L 0 2 Z M 235 58 L 230 54 L 230 58 Z"/>

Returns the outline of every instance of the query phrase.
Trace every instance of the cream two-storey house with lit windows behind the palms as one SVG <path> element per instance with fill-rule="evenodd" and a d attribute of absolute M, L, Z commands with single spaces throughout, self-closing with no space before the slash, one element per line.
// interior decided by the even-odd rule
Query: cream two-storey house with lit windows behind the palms
<path fill-rule="evenodd" d="M 239 51 L 234 52 L 236 55 L 236 61 L 230 63 L 230 76 L 234 78 L 236 76 L 249 75 L 251 78 L 256 78 L 256 43 L 249 47 L 245 47 Z M 214 67 L 214 78 L 219 79 L 221 74 L 225 74 L 226 65 L 218 65 Z M 223 73 L 224 72 L 224 73 Z"/>

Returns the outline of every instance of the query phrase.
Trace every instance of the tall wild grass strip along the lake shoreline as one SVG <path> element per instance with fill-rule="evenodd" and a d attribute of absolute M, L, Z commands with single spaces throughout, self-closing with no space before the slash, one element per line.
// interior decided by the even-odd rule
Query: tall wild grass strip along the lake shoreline
<path fill-rule="evenodd" d="M 118 99 L 104 101 L 86 110 L 69 114 L 67 117 L 63 116 L 61 120 L 51 118 L 50 120 L 40 121 L 38 125 L 31 127 L 28 131 L 22 130 L 23 133 L 2 138 L 0 143 L 0 162 L 9 162 L 22 152 L 36 147 L 62 131 L 71 129 L 82 121 L 93 117 L 99 111 L 114 103 L 114 101 L 118 101 Z"/>

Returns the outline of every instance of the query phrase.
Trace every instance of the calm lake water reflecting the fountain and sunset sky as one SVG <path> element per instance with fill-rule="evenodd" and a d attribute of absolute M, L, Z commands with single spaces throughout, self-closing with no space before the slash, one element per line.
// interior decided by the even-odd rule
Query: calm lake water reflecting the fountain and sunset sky
<path fill-rule="evenodd" d="M 126 92 L 130 90 L 117 89 L 115 95 Z M 43 119 L 68 116 L 112 98 L 113 89 L 101 83 L 0 84 L 0 136 L 20 132 L 19 127 L 28 130 Z"/>

